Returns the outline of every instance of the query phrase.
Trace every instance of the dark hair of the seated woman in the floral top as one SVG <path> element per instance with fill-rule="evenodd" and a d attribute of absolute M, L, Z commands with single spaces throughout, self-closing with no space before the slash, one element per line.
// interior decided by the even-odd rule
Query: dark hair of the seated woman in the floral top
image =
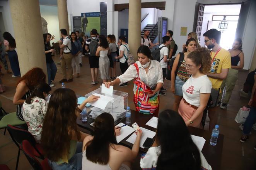
<path fill-rule="evenodd" d="M 45 82 L 42 82 L 41 84 L 36 86 L 36 88 L 34 88 L 34 91 L 31 94 L 31 96 L 29 96 L 26 99 L 26 103 L 31 104 L 31 99 L 34 98 L 34 97 L 39 97 L 41 99 L 45 99 L 43 92 L 44 93 L 49 93 L 49 91 L 51 91 L 51 87 L 49 86 L 49 84 L 47 84 Z"/>

